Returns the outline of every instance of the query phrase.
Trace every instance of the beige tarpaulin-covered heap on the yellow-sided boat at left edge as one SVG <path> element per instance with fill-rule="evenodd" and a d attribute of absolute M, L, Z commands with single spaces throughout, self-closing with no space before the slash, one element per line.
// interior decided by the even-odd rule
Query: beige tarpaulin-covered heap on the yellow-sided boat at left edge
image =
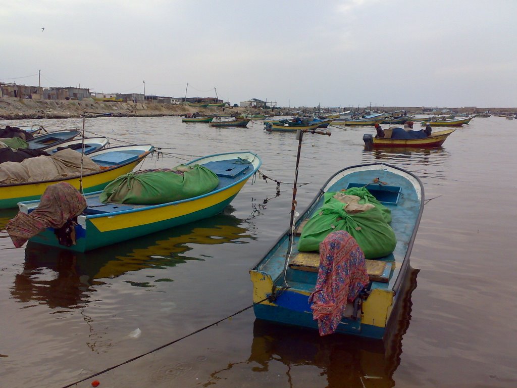
<path fill-rule="evenodd" d="M 83 175 L 100 171 L 100 166 L 83 156 Z M 51 156 L 37 156 L 22 162 L 0 165 L 0 184 L 53 181 L 81 174 L 81 153 L 69 148 Z"/>

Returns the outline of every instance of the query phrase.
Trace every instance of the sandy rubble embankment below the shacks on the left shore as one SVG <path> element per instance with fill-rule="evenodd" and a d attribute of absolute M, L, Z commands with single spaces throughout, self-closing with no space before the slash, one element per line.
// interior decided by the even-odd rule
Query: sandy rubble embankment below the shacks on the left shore
<path fill-rule="evenodd" d="M 255 113 L 246 109 L 246 113 Z M 134 102 L 96 102 L 78 100 L 29 100 L 0 98 L 0 120 L 27 118 L 77 118 L 88 115 L 112 115 L 121 117 L 180 116 L 199 112 L 203 115 L 221 114 L 223 108 L 193 108 L 185 105 Z M 224 113 L 243 113 L 242 108 L 224 108 Z"/>

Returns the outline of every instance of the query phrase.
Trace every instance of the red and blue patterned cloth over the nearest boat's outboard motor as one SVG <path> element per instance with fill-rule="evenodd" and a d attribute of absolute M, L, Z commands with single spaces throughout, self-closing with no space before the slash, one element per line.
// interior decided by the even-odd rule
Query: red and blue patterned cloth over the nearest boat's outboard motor
<path fill-rule="evenodd" d="M 336 331 L 347 302 L 353 302 L 369 283 L 364 253 L 343 230 L 329 233 L 320 243 L 320 268 L 309 297 L 320 335 Z"/>

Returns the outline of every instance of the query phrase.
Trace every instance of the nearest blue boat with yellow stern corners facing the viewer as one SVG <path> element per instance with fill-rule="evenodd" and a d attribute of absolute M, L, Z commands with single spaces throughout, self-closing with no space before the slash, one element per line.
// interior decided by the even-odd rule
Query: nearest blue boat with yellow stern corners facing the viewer
<path fill-rule="evenodd" d="M 366 260 L 370 282 L 353 303 L 346 305 L 336 332 L 383 338 L 393 311 L 401 303 L 424 203 L 421 181 L 412 173 L 385 163 L 347 167 L 332 175 L 296 222 L 293 197 L 290 228 L 250 270 L 256 318 L 318 328 L 309 297 L 315 290 L 320 255 L 298 250 L 300 234 L 307 220 L 320 214 L 327 193 L 363 187 L 391 211 L 390 226 L 396 245 L 387 256 Z"/>

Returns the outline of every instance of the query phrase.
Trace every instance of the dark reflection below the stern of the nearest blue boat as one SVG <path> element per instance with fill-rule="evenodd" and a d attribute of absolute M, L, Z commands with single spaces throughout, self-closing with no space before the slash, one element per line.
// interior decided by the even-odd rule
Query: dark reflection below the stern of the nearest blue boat
<path fill-rule="evenodd" d="M 316 331 L 257 319 L 248 363 L 255 365 L 254 372 L 262 373 L 268 372 L 270 364 L 280 362 L 287 367 L 290 383 L 297 375 L 296 367 L 316 366 L 322 370 L 320 375 L 325 376 L 328 388 L 394 386 L 393 373 L 400 364 L 402 337 L 411 320 L 411 294 L 417 286 L 417 274 L 413 268 L 408 271 L 402 303 L 394 311 L 396 319 L 384 341 L 345 335 L 320 337 Z"/>

